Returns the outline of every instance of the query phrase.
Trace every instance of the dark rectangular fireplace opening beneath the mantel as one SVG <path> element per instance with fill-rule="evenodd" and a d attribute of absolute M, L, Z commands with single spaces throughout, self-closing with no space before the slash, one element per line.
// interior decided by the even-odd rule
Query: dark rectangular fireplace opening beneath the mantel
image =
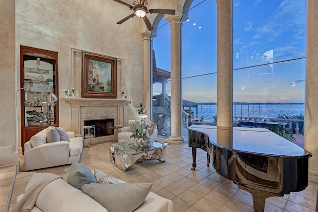
<path fill-rule="evenodd" d="M 95 128 L 92 128 L 90 130 L 90 134 L 95 135 L 95 138 L 114 135 L 114 129 L 110 128 L 114 126 L 114 119 L 95 119 L 95 120 L 84 121 L 84 126 L 91 126 L 91 125 L 94 125 Z M 84 133 L 86 133 L 86 131 Z"/>

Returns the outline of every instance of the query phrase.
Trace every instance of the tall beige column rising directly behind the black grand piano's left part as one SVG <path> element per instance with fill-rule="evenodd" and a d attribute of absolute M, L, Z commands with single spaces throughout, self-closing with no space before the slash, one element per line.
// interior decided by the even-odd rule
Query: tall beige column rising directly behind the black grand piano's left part
<path fill-rule="evenodd" d="M 233 0 L 217 2 L 217 126 L 233 126 Z"/>

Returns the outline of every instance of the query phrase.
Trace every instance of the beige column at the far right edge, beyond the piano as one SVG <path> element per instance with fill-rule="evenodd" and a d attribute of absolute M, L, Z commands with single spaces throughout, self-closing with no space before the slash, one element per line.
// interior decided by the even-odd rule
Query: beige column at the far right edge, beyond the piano
<path fill-rule="evenodd" d="M 307 48 L 305 84 L 305 142 L 306 150 L 313 153 L 309 158 L 309 180 L 318 183 L 318 1 L 307 0 Z"/>

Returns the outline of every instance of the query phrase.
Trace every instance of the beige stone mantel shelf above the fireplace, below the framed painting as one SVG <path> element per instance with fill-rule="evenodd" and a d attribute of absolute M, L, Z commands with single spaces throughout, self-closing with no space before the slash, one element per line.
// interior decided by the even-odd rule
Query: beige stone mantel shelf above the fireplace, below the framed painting
<path fill-rule="evenodd" d="M 94 98 L 62 98 L 71 106 L 119 106 L 131 104 L 133 100 L 126 99 L 94 99 Z"/>

